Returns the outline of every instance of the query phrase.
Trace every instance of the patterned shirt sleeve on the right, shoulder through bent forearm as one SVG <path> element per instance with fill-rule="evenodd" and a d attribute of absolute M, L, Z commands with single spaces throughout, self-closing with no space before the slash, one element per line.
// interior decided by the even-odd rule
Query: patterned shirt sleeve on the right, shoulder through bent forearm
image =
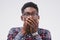
<path fill-rule="evenodd" d="M 36 35 L 35 38 L 36 40 L 51 40 L 51 34 L 48 30 L 42 30 L 42 33 Z"/>

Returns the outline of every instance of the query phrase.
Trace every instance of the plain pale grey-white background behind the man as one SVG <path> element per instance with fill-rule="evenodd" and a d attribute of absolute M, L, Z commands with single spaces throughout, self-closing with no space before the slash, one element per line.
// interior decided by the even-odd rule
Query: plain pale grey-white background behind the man
<path fill-rule="evenodd" d="M 0 0 L 0 40 L 6 40 L 13 27 L 22 27 L 21 7 L 32 1 L 39 7 L 39 28 L 51 32 L 52 40 L 60 39 L 60 0 Z"/>

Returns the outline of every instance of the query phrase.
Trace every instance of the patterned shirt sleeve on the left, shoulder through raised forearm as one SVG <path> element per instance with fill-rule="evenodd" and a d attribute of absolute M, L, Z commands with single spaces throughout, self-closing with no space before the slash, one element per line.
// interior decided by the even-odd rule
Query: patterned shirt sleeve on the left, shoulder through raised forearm
<path fill-rule="evenodd" d="M 16 28 L 11 28 L 7 37 L 7 40 L 21 40 L 22 39 L 22 33 L 17 33 Z"/>

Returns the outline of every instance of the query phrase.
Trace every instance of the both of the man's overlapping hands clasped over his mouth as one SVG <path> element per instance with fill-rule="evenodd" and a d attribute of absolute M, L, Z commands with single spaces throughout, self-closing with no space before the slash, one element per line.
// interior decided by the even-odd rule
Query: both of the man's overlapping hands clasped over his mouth
<path fill-rule="evenodd" d="M 28 17 L 26 21 L 24 22 L 23 30 L 25 30 L 25 34 L 29 33 L 35 33 L 38 28 L 38 20 L 34 19 L 32 17 Z"/>

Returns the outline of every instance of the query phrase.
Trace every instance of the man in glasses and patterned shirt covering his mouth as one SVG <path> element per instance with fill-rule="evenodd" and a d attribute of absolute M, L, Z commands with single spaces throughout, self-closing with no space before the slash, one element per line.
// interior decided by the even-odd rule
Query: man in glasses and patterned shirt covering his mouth
<path fill-rule="evenodd" d="M 12 28 L 7 40 L 51 40 L 48 30 L 38 28 L 39 14 L 36 4 L 28 2 L 23 5 L 21 11 L 23 27 Z"/>

